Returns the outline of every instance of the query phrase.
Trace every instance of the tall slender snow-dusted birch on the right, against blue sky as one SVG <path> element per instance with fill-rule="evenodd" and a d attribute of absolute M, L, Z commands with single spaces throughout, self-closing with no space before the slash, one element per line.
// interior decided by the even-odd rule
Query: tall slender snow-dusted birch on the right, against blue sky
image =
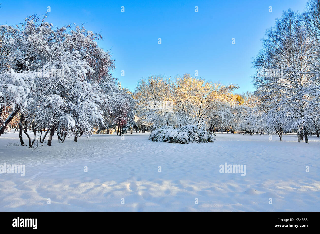
<path fill-rule="evenodd" d="M 310 44 L 301 25 L 300 17 L 291 10 L 285 11 L 277 20 L 276 27 L 266 32 L 263 49 L 254 59 L 258 69 L 254 76 L 255 94 L 270 98 L 274 121 L 293 120 L 292 128 L 297 129 L 298 141 L 305 136 L 308 143 L 310 128 L 310 105 L 312 97 L 304 92 L 304 87 L 312 84 L 312 74 L 308 60 Z M 262 71 L 262 72 L 261 72 Z"/>

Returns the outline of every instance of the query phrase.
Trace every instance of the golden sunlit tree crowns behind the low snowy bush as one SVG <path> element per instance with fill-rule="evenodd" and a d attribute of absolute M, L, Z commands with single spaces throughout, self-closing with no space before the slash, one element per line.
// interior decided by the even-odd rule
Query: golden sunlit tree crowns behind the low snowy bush
<path fill-rule="evenodd" d="M 237 85 L 208 82 L 190 74 L 177 75 L 174 81 L 161 75 L 150 75 L 147 79 L 140 79 L 134 98 L 138 100 L 138 116 L 143 116 L 146 122 L 153 119 L 144 117 L 148 115 L 144 113 L 145 107 L 153 107 L 150 103 L 168 101 L 179 124 L 186 122 L 201 126 L 221 105 L 235 105 L 236 97 L 231 92 L 237 88 Z M 158 114 L 165 115 L 160 111 Z"/>

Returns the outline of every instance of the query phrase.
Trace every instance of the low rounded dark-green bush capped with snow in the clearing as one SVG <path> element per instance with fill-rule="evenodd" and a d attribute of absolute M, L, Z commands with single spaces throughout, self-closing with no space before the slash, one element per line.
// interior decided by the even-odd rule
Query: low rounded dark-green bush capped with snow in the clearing
<path fill-rule="evenodd" d="M 180 144 L 216 141 L 212 133 L 207 132 L 205 129 L 198 129 L 196 125 L 186 125 L 180 129 L 163 126 L 151 132 L 149 140 Z"/>

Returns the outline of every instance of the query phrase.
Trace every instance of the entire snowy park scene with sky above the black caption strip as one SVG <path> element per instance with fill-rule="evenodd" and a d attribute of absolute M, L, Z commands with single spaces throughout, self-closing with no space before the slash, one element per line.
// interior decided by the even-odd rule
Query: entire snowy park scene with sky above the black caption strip
<path fill-rule="evenodd" d="M 1 1 L 0 212 L 320 211 L 304 1 Z"/>

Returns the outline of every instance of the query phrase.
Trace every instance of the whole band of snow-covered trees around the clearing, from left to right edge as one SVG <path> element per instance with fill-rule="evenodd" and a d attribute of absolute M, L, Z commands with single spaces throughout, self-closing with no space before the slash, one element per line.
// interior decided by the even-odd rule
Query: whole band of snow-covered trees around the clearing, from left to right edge
<path fill-rule="evenodd" d="M 186 125 L 277 134 L 280 140 L 294 132 L 306 143 L 311 134 L 319 137 L 318 0 L 301 14 L 284 11 L 266 30 L 253 58 L 255 91 L 243 94 L 235 93 L 236 84 L 190 74 L 150 74 L 130 92 L 113 76 L 115 63 L 98 46 L 100 34 L 83 25 L 53 27 L 46 18 L 31 15 L 19 25 L 0 26 L 0 136 L 13 127 L 30 148 L 46 137 L 51 145 L 54 134 L 63 143 L 67 136 L 77 141 L 93 132 L 122 135 Z"/>

